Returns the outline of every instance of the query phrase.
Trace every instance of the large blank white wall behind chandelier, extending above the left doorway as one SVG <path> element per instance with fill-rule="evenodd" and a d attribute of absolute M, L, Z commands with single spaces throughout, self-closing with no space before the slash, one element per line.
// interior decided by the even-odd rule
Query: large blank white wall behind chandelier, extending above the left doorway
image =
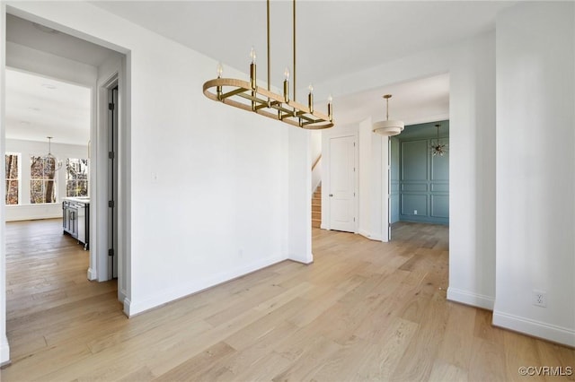
<path fill-rule="evenodd" d="M 215 60 L 111 13 L 75 2 L 11 4 L 128 54 L 128 315 L 288 253 L 311 257 L 311 162 L 309 153 L 294 158 L 308 152 L 307 134 L 208 100 L 201 86 Z M 291 219 L 294 205 L 305 206 L 305 224 Z"/>

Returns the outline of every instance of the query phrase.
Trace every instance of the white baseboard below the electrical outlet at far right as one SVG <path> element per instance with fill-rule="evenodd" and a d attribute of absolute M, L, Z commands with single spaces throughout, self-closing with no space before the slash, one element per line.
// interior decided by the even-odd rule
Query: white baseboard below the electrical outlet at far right
<path fill-rule="evenodd" d="M 509 315 L 499 310 L 493 312 L 493 326 L 500 326 L 515 332 L 543 338 L 553 343 L 562 343 L 575 347 L 575 330 L 566 327 L 554 326 L 525 317 Z"/>

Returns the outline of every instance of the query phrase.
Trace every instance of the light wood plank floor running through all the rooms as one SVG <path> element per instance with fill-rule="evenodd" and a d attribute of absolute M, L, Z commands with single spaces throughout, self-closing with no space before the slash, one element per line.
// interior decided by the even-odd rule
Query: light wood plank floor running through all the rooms
<path fill-rule="evenodd" d="M 59 221 L 8 223 L 13 363 L 1 380 L 503 381 L 520 366 L 575 368 L 575 351 L 446 300 L 447 227 L 402 223 L 392 243 L 313 235 L 313 265 L 283 262 L 127 319 L 115 282 L 85 280 L 88 254 Z"/>

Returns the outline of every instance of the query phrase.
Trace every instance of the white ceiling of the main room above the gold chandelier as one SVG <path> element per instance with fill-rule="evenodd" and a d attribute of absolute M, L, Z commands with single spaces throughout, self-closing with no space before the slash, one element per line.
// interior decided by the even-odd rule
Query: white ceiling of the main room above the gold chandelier
<path fill-rule="evenodd" d="M 515 2 L 298 0 L 298 83 L 319 83 L 425 49 L 467 39 L 495 27 L 495 16 Z M 154 30 L 207 56 L 247 71 L 259 52 L 266 78 L 266 2 L 96 1 L 94 5 Z M 272 0 L 272 81 L 292 66 L 292 2 Z M 216 69 L 214 68 L 214 71 Z"/>

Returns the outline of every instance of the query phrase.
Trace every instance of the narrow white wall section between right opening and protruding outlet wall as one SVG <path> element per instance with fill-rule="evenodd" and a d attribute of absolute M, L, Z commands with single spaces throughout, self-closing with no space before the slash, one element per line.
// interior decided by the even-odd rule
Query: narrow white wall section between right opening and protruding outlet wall
<path fill-rule="evenodd" d="M 495 36 L 461 47 L 450 65 L 449 289 L 492 309 L 495 300 Z"/>

